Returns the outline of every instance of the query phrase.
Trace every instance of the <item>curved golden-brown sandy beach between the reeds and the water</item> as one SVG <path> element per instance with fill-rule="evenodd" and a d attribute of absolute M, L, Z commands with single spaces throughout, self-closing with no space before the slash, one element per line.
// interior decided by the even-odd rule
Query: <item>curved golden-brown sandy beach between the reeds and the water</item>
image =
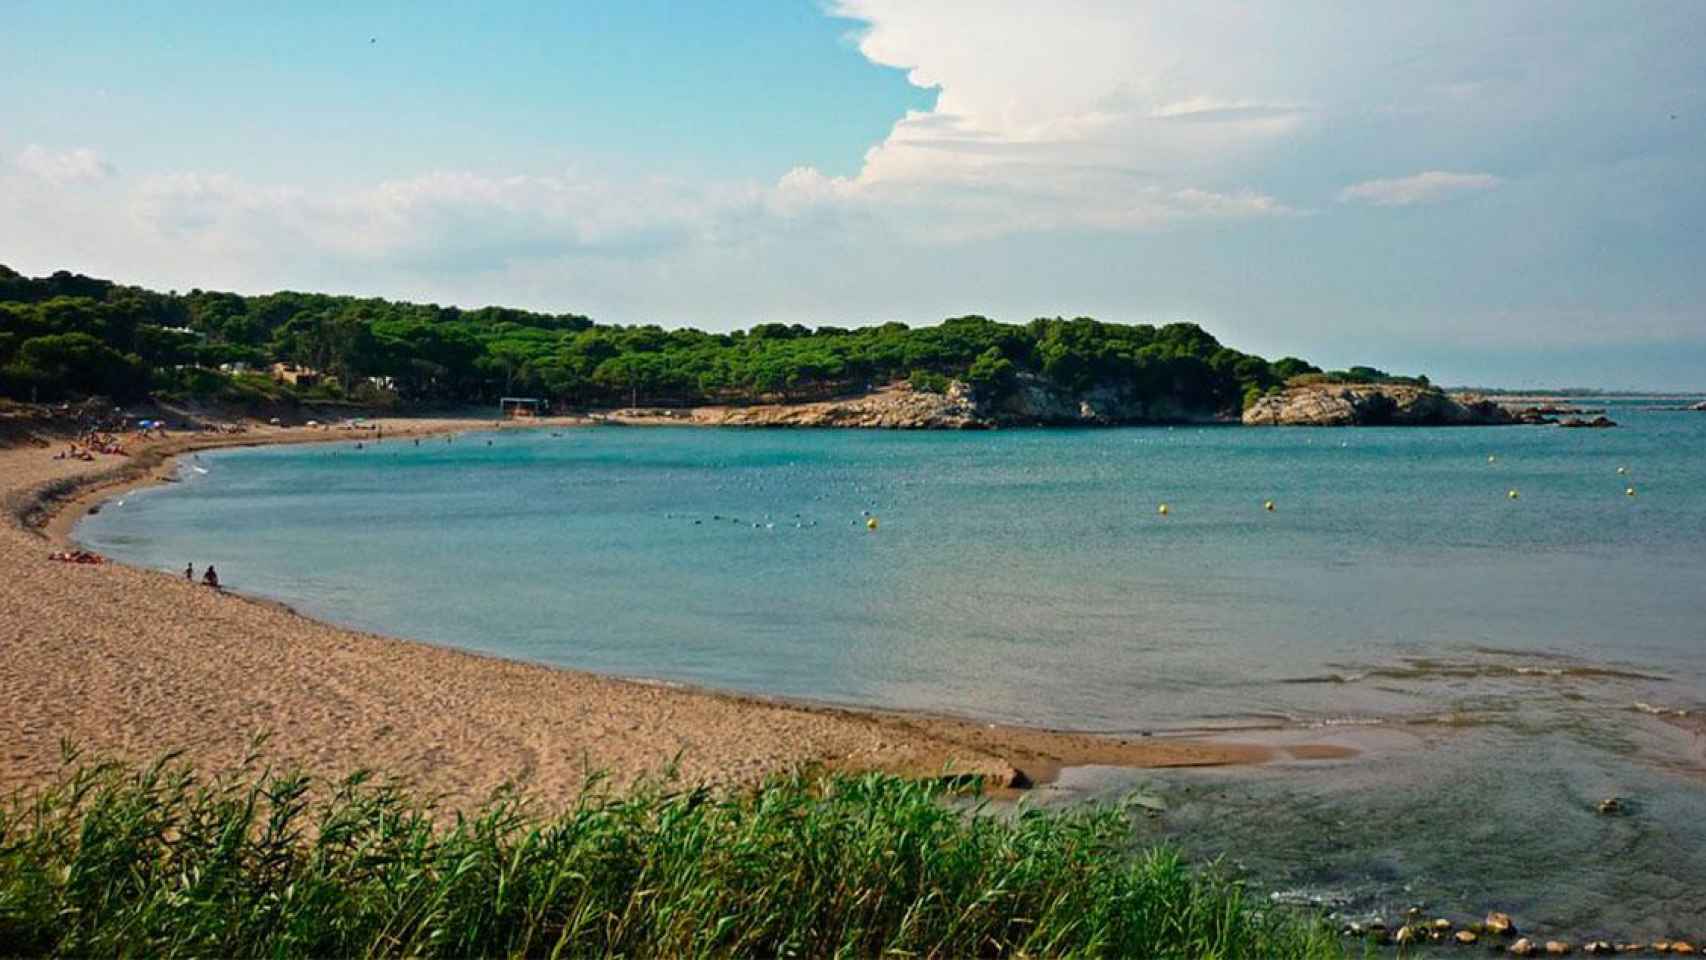
<path fill-rule="evenodd" d="M 389 438 L 490 421 L 380 421 Z M 744 784 L 795 767 L 1046 781 L 1063 766 L 1133 767 L 1344 755 L 1341 747 L 1104 738 L 954 718 L 841 709 L 641 684 L 333 627 L 278 604 L 119 564 L 49 561 L 90 501 L 169 472 L 165 459 L 232 443 L 336 440 L 251 426 L 131 443 L 133 457 L 55 460 L 0 448 L 0 789 L 51 778 L 60 742 L 205 769 L 268 759 L 322 776 L 375 769 L 478 801 L 505 783 L 561 803 L 589 771 L 631 783 L 677 764 L 688 783 Z M 58 440 L 63 448 L 63 440 Z M 198 571 L 200 573 L 200 571 Z M 1017 776 L 1017 771 L 1024 771 Z"/>

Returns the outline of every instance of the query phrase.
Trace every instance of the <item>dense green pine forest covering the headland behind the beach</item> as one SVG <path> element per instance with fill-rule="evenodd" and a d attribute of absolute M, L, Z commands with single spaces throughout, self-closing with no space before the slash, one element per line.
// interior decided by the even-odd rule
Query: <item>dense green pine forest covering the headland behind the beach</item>
<path fill-rule="evenodd" d="M 280 384 L 275 363 L 312 375 Z M 967 315 L 921 327 L 705 333 L 326 293 L 159 293 L 0 266 L 0 394 L 17 401 L 430 406 L 529 396 L 566 409 L 807 401 L 896 380 L 931 390 L 962 380 L 1000 399 L 1024 373 L 1075 392 L 1114 387 L 1237 413 L 1319 370 L 1240 353 L 1196 324 L 1044 317 L 1020 326 Z"/>

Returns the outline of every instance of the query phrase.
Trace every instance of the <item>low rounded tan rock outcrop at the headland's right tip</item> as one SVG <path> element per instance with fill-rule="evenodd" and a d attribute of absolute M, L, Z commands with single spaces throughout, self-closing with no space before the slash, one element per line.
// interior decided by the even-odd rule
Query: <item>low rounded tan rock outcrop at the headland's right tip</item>
<path fill-rule="evenodd" d="M 1250 426 L 1457 426 L 1518 423 L 1500 404 L 1409 384 L 1307 384 L 1244 411 Z"/>

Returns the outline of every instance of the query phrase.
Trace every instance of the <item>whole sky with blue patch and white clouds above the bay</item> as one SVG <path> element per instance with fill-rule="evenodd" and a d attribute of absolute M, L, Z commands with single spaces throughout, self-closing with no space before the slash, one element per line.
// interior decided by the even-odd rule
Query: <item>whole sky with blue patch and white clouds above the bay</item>
<path fill-rule="evenodd" d="M 1699 0 L 0 0 L 0 263 L 1706 389 Z"/>

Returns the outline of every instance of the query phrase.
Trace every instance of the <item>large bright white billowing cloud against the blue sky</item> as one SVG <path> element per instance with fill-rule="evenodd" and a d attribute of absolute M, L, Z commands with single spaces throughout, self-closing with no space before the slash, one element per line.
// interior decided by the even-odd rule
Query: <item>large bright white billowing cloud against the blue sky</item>
<path fill-rule="evenodd" d="M 901 118 L 851 177 L 790 172 L 790 211 L 863 205 L 949 242 L 1291 211 L 1233 167 L 1310 109 L 1177 51 L 1181 31 L 1211 26 L 1191 10 L 843 0 L 834 14 L 862 20 L 860 51 L 935 87 L 937 104 Z"/>

